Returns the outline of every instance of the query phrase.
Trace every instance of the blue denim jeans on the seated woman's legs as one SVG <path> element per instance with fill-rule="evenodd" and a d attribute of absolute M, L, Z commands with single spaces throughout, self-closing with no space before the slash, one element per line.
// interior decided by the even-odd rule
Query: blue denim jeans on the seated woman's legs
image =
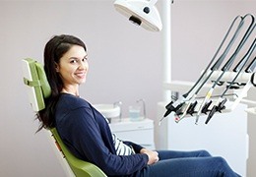
<path fill-rule="evenodd" d="M 160 150 L 160 161 L 141 171 L 142 177 L 237 177 L 223 157 L 206 150 Z"/>

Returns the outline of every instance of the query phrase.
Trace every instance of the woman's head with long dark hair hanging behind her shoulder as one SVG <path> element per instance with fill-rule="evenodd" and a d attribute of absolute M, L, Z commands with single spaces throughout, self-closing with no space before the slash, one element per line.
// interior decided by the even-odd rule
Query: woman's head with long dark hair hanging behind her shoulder
<path fill-rule="evenodd" d="M 79 95 L 79 85 L 85 83 L 88 71 L 87 47 L 72 35 L 52 37 L 44 49 L 44 71 L 51 88 L 51 96 L 45 100 L 46 108 L 37 114 L 43 127 L 53 126 L 54 111 L 60 93 Z"/>

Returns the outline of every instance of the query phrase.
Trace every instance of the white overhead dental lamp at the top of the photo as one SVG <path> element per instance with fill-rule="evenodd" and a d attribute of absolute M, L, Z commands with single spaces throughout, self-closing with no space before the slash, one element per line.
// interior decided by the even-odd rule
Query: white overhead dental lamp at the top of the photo
<path fill-rule="evenodd" d="M 116 0 L 116 11 L 144 29 L 160 31 L 162 24 L 155 4 L 158 0 Z"/>

